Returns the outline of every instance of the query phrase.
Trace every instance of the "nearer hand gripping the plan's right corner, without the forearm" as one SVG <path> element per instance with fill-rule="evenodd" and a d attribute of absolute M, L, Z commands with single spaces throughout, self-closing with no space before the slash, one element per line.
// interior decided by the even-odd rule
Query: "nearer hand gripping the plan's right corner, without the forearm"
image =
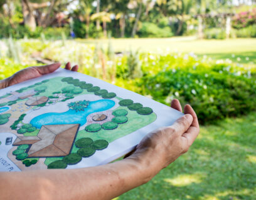
<path fill-rule="evenodd" d="M 171 107 L 182 112 L 177 99 L 172 101 Z M 186 153 L 198 136 L 200 128 L 195 111 L 186 105 L 184 114 L 172 126 L 147 134 L 136 147 L 136 151 L 128 157 L 142 164 L 150 179 Z"/>

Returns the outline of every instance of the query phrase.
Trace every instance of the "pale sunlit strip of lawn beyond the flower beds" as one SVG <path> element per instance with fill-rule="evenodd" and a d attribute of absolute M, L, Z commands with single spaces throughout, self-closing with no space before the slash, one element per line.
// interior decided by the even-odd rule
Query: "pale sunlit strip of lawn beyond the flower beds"
<path fill-rule="evenodd" d="M 87 44 L 99 43 L 107 47 L 109 40 L 85 40 L 79 42 Z M 190 53 L 199 56 L 207 55 L 213 59 L 231 59 L 238 63 L 256 63 L 256 39 L 203 39 L 198 40 L 194 36 L 170 37 L 170 38 L 137 38 L 137 39 L 111 39 L 115 51 L 129 51 L 129 49 L 139 49 L 140 51 L 166 51 Z M 234 57 L 232 57 L 232 55 Z M 246 59 L 248 57 L 248 59 Z M 237 60 L 237 58 L 240 58 Z"/>

